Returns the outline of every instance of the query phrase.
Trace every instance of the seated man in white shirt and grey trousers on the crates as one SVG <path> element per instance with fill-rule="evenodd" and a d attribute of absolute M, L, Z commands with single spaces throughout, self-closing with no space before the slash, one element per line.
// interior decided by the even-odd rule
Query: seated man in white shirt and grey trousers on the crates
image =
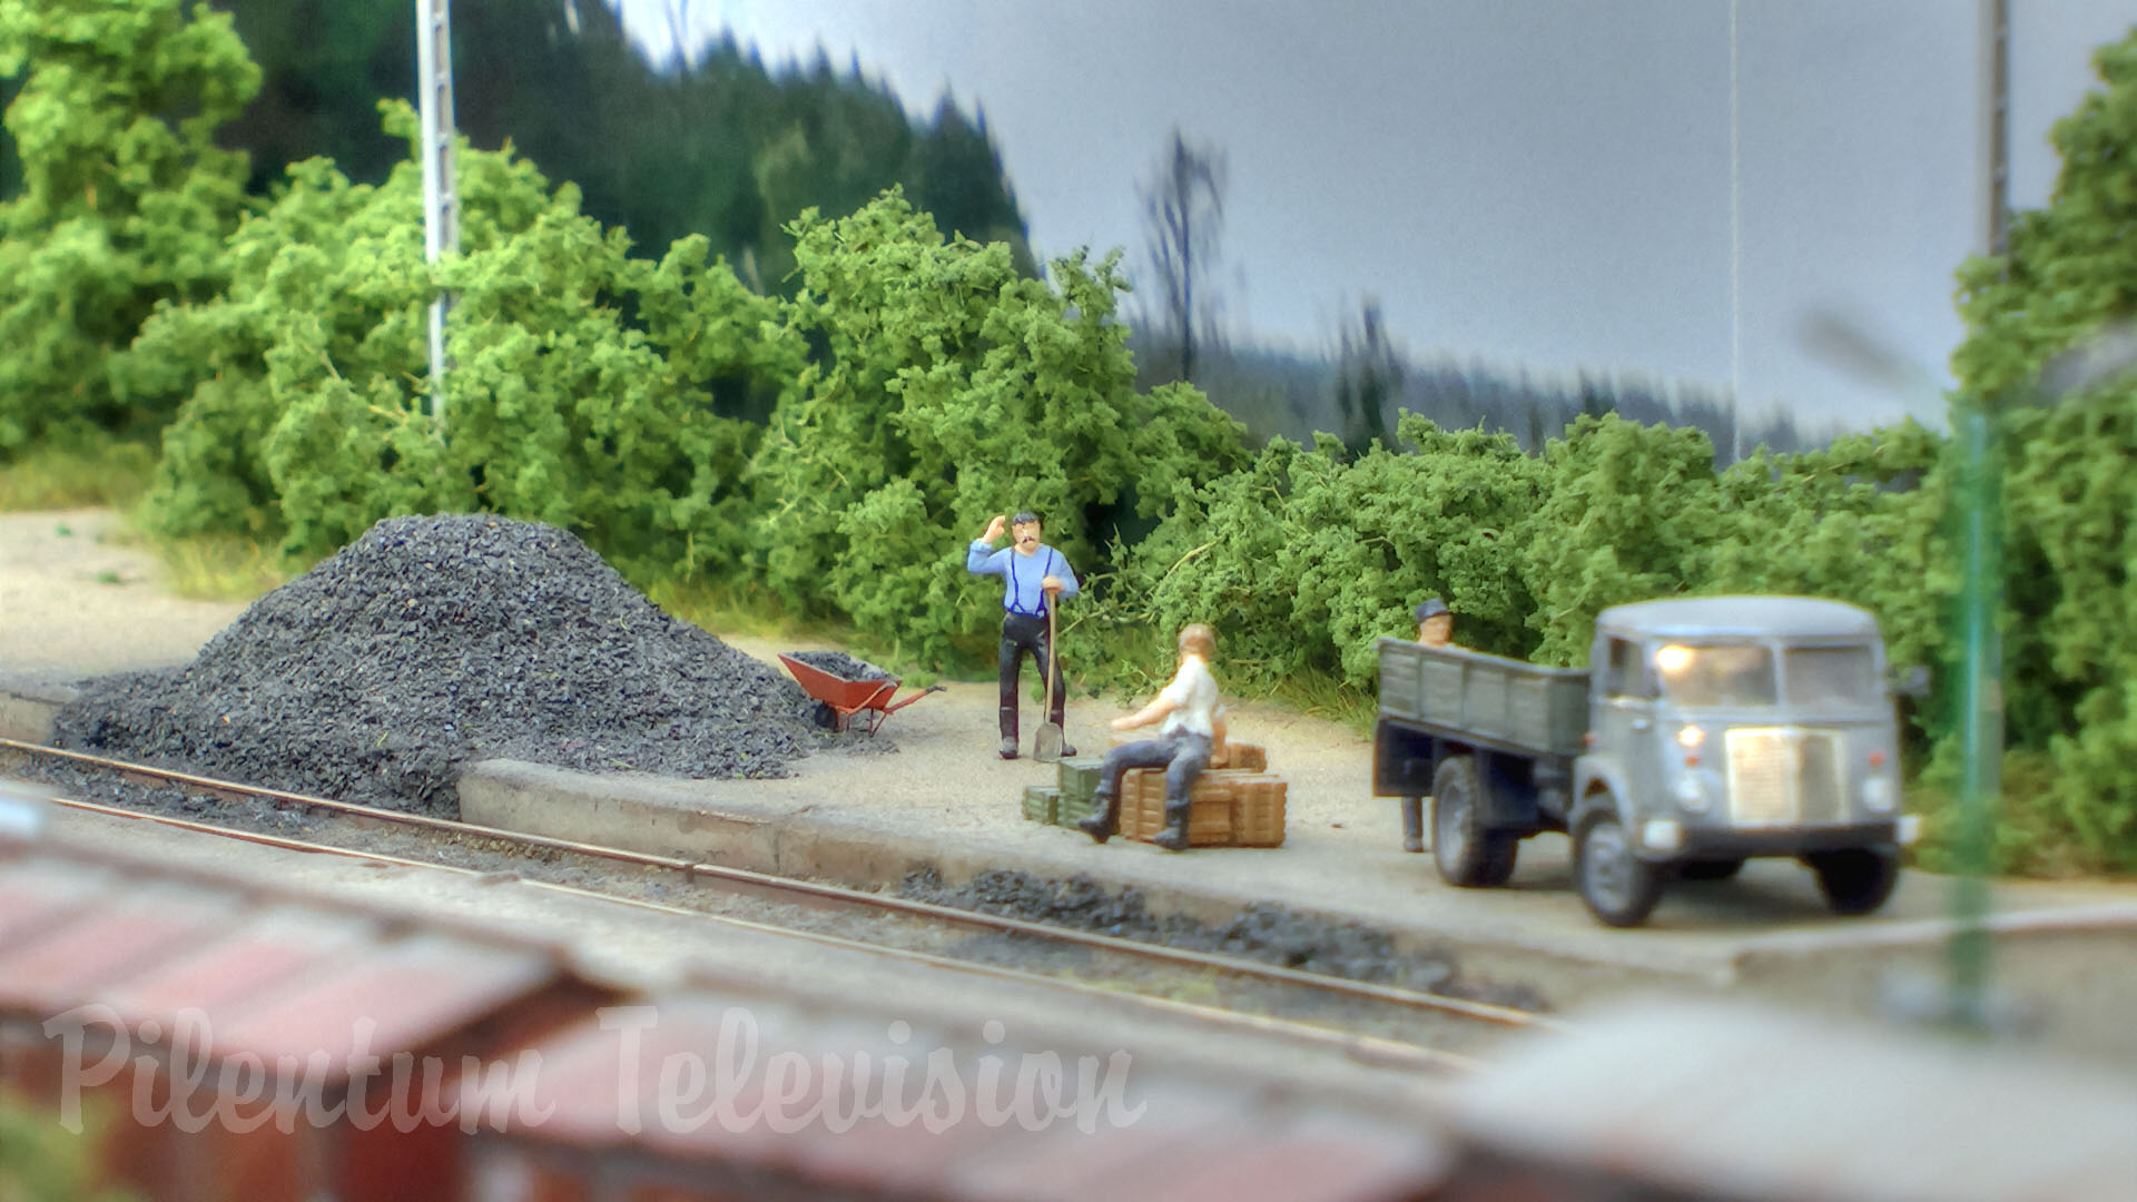
<path fill-rule="evenodd" d="M 1225 761 L 1225 708 L 1218 704 L 1210 657 L 1216 631 L 1201 622 L 1180 629 L 1180 669 L 1148 706 L 1113 719 L 1113 729 L 1148 727 L 1163 721 L 1158 738 L 1124 742 L 1105 753 L 1094 800 L 1098 808 L 1079 821 L 1083 834 L 1105 843 L 1120 832 L 1120 774 L 1128 768 L 1165 768 L 1165 830 L 1154 843 L 1167 851 L 1188 847 L 1188 789 L 1212 761 Z"/>

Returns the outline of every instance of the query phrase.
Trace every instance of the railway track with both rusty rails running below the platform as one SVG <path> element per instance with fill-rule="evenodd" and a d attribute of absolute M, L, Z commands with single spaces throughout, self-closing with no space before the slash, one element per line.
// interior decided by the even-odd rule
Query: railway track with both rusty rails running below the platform
<path fill-rule="evenodd" d="M 0 740 L 0 749 L 32 761 L 66 761 L 77 770 L 111 774 L 135 785 L 184 789 L 220 802 L 271 804 L 278 811 L 297 808 L 321 815 L 323 823 L 308 832 L 312 836 L 297 838 L 130 806 L 51 798 L 79 813 L 385 864 L 509 875 L 536 890 L 776 933 L 960 973 L 1086 992 L 1116 1005 L 1167 1012 L 1207 1027 L 1244 1029 L 1395 1069 L 1468 1074 L 1481 1067 L 1489 1048 L 1502 1039 L 1519 1037 L 1524 1031 L 1564 1029 L 1554 1018 L 1524 1010 L 1308 973 L 1242 956 L 1116 939 L 722 864 L 359 806 L 17 740 Z M 737 909 L 752 911 L 754 918 L 739 918 Z M 859 928 L 865 928 L 865 939 L 853 937 Z M 1210 995 L 1216 999 L 1207 1001 Z"/>

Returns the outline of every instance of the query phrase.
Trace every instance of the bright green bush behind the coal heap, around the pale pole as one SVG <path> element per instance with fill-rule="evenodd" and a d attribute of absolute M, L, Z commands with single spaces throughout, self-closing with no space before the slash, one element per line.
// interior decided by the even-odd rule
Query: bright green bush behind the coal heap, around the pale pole
<path fill-rule="evenodd" d="M 387 105 L 415 141 L 415 115 Z M 165 535 L 284 533 L 321 556 L 378 518 L 492 509 L 571 528 L 641 575 L 724 573 L 742 556 L 756 430 L 718 394 L 776 389 L 801 344 L 776 304 L 684 240 L 660 263 L 577 212 L 577 190 L 462 148 L 462 255 L 423 263 L 421 173 L 378 188 L 291 169 L 231 237 L 231 284 L 165 306 L 115 379 L 182 396 L 150 522 Z M 457 293 L 442 419 L 427 306 Z M 624 306 L 637 321 L 626 325 Z"/>

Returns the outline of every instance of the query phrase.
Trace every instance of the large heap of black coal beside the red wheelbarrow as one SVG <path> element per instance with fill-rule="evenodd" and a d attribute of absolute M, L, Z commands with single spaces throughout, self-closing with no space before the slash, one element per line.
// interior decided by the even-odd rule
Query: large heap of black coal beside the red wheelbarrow
<path fill-rule="evenodd" d="M 827 740 L 778 669 L 650 603 L 577 537 L 389 518 L 186 667 L 105 676 L 58 744 L 457 815 L 462 764 L 786 776 Z"/>

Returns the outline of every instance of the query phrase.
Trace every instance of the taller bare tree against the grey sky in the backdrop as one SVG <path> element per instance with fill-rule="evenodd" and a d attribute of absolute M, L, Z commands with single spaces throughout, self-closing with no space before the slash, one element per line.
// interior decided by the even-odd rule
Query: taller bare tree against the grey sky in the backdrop
<path fill-rule="evenodd" d="M 1154 167 L 1137 195 L 1143 201 L 1150 267 L 1163 306 L 1156 325 L 1165 344 L 1177 346 L 1177 379 L 1195 383 L 1201 349 L 1216 340 L 1218 329 L 1210 269 L 1225 229 L 1225 152 L 1192 143 L 1173 128 L 1171 145 Z"/>

